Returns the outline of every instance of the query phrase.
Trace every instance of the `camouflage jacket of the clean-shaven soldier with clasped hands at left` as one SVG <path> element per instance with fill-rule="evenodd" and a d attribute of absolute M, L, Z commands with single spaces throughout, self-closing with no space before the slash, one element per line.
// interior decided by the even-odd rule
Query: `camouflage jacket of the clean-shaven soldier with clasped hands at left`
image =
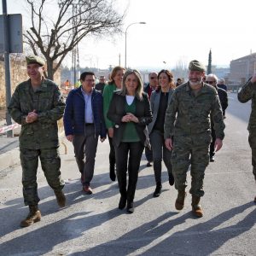
<path fill-rule="evenodd" d="M 59 145 L 57 120 L 61 119 L 65 103 L 58 86 L 44 79 L 34 91 L 30 79 L 19 84 L 9 103 L 11 117 L 21 125 L 20 148 L 55 148 Z M 26 123 L 27 113 L 36 110 L 38 120 Z"/>

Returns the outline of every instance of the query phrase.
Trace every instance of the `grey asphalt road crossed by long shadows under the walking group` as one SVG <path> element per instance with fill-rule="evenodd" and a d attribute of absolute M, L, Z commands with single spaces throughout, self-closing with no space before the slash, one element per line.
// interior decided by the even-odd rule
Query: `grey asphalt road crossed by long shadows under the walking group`
<path fill-rule="evenodd" d="M 256 255 L 256 185 L 247 143 L 250 103 L 230 94 L 225 119 L 224 147 L 207 167 L 205 215 L 191 214 L 191 197 L 183 211 L 174 207 L 177 191 L 167 182 L 163 167 L 163 193 L 153 198 L 154 172 L 142 160 L 135 212 L 120 211 L 117 182 L 108 177 L 108 142 L 100 143 L 93 195 L 84 195 L 71 143 L 61 146 L 61 171 L 67 184 L 67 207 L 59 210 L 54 193 L 38 171 L 38 194 L 43 218 L 20 229 L 27 214 L 23 206 L 20 166 L 0 178 L 1 255 Z M 188 173 L 188 183 L 190 177 Z M 189 189 L 190 186 L 188 186 Z"/>

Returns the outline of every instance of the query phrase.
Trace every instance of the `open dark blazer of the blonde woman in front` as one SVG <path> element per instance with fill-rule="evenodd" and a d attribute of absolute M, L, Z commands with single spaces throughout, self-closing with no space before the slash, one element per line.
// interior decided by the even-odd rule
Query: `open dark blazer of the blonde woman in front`
<path fill-rule="evenodd" d="M 140 101 L 135 97 L 136 113 L 135 116 L 139 120 L 138 123 L 134 123 L 137 131 L 137 135 L 140 138 L 141 143 L 145 145 L 146 136 L 144 130 L 146 125 L 152 121 L 152 113 L 148 95 L 143 92 L 143 100 Z M 121 143 L 126 123 L 122 122 L 121 119 L 125 113 L 125 96 L 121 96 L 119 92 L 114 92 L 113 98 L 108 108 L 108 119 L 114 122 L 113 127 L 113 145 L 119 147 Z"/>

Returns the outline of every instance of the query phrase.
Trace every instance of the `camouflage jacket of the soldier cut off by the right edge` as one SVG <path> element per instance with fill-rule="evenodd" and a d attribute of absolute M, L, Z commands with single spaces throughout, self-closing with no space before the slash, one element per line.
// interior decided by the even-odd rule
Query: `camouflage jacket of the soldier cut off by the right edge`
<path fill-rule="evenodd" d="M 252 112 L 247 126 L 248 131 L 256 130 L 256 83 L 251 83 L 251 79 L 247 80 L 237 95 L 238 101 L 241 103 L 252 100 Z"/>

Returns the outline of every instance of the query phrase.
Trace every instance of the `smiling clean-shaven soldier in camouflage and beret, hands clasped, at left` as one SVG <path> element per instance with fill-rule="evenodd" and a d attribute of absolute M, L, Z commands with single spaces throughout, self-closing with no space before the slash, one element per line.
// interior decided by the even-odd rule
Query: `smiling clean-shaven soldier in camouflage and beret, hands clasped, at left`
<path fill-rule="evenodd" d="M 58 152 L 58 126 L 65 103 L 58 86 L 44 79 L 44 60 L 38 56 L 27 56 L 27 81 L 19 84 L 9 103 L 11 117 L 21 125 L 20 162 L 25 205 L 28 216 L 20 222 L 26 227 L 41 219 L 38 210 L 38 157 L 49 186 L 54 189 L 60 207 L 65 207 L 66 198 L 62 192 L 61 159 Z"/>

